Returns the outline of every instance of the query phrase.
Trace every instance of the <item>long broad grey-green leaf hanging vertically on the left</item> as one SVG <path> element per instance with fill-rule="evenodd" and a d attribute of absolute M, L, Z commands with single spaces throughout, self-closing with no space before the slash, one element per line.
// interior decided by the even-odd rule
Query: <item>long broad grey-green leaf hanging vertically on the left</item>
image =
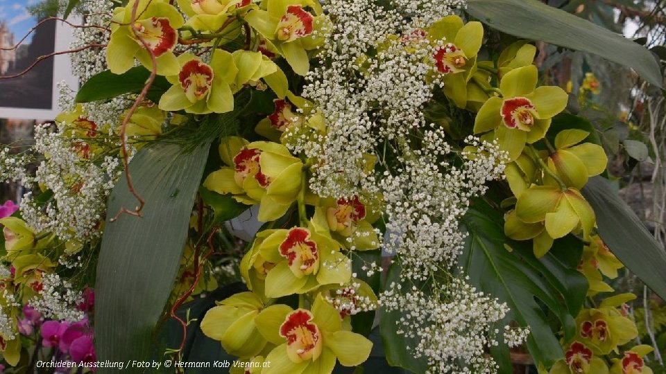
<path fill-rule="evenodd" d="M 128 362 L 153 353 L 153 328 L 178 271 L 209 149 L 210 141 L 187 153 L 176 143 L 153 143 L 139 150 L 130 172 L 137 193 L 146 200 L 143 217 L 123 214 L 110 222 L 122 207 L 137 204 L 125 177 L 116 184 L 97 267 L 95 340 L 100 359 Z"/>

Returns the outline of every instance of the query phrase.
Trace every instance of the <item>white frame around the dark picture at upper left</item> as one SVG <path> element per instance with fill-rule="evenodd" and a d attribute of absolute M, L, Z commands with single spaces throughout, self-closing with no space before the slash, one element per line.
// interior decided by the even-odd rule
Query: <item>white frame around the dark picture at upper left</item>
<path fill-rule="evenodd" d="M 79 19 L 72 20 L 72 18 L 73 17 L 70 17 L 68 19 L 68 21 L 70 21 L 72 24 L 77 24 L 77 22 L 80 21 Z M 71 42 L 74 40 L 71 26 L 58 20 L 46 21 L 46 23 L 49 22 L 56 23 L 56 32 L 55 35 L 53 35 L 55 38 L 54 50 L 56 52 L 69 50 L 71 48 Z M 42 26 L 45 26 L 45 24 L 42 24 Z M 18 42 L 18 40 L 23 36 L 24 35 L 15 35 L 15 42 Z M 51 84 L 50 107 L 44 109 L 35 109 L 20 106 L 6 106 L 6 103 L 3 103 L 3 100 L 0 100 L 0 118 L 37 121 L 52 121 L 54 118 L 56 118 L 56 116 L 60 113 L 60 110 L 58 109 L 58 82 L 65 81 L 72 90 L 76 91 L 78 89 L 78 80 L 71 73 L 69 54 L 56 55 L 51 58 L 53 59 L 53 79 L 51 82 L 48 82 L 48 84 Z M 43 63 L 44 62 L 40 62 L 40 64 Z M 15 82 L 16 84 L 22 84 L 21 78 L 9 78 L 5 80 L 5 82 Z M 44 82 L 44 84 L 46 84 L 46 82 Z"/>

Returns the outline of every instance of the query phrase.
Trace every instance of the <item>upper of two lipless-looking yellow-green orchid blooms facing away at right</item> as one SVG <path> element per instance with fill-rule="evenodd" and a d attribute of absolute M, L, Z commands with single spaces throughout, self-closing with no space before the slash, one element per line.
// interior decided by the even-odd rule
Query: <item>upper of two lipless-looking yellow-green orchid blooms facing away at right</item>
<path fill-rule="evenodd" d="M 581 143 L 589 132 L 577 129 L 563 130 L 555 137 L 556 151 L 549 154 L 548 168 L 569 187 L 583 188 L 588 177 L 606 170 L 608 157 L 601 145 Z M 580 143 L 580 144 L 579 144 Z M 556 186 L 549 176 L 545 183 Z"/>

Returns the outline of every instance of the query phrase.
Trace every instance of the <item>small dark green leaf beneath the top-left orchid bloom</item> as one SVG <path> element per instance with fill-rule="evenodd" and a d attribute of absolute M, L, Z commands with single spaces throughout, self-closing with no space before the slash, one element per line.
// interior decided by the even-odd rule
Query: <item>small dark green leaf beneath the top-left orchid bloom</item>
<path fill-rule="evenodd" d="M 151 73 L 144 66 L 135 66 L 122 74 L 114 74 L 111 71 L 102 71 L 83 83 L 78 90 L 74 101 L 76 103 L 90 103 L 96 100 L 106 100 L 123 94 L 138 94 L 144 89 L 146 80 Z M 160 97 L 171 87 L 167 78 L 155 77 L 155 81 L 148 89 L 147 98 L 154 103 L 160 101 Z"/>

